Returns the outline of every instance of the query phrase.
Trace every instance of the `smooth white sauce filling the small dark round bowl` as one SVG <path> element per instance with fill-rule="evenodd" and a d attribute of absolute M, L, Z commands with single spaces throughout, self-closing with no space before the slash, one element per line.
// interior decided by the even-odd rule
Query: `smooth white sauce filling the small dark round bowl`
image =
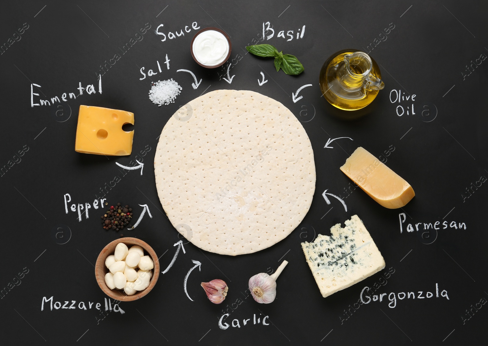
<path fill-rule="evenodd" d="M 216 30 L 206 30 L 193 40 L 193 55 L 202 65 L 222 64 L 229 53 L 229 43 L 225 36 Z"/>

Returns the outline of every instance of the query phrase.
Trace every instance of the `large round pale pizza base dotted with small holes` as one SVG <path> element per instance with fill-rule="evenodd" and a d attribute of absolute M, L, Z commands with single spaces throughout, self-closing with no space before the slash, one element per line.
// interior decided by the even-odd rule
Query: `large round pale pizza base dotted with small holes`
<path fill-rule="evenodd" d="M 211 91 L 173 114 L 154 172 L 173 226 L 199 248 L 223 255 L 284 239 L 315 191 L 302 124 L 280 102 L 246 90 Z"/>

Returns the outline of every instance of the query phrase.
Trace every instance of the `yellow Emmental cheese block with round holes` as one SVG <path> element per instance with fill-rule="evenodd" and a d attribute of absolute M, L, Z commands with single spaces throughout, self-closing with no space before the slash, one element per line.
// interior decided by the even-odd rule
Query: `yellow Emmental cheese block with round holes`
<path fill-rule="evenodd" d="M 134 125 L 134 113 L 80 106 L 75 151 L 98 155 L 130 155 L 134 131 L 122 130 L 124 124 Z"/>

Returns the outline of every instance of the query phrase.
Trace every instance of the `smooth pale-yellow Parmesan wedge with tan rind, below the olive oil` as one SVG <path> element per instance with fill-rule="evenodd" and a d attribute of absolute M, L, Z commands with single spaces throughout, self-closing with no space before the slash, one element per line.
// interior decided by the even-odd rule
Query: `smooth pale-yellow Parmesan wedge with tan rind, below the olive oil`
<path fill-rule="evenodd" d="M 341 171 L 385 208 L 401 208 L 415 196 L 405 179 L 364 148 L 356 149 Z"/>

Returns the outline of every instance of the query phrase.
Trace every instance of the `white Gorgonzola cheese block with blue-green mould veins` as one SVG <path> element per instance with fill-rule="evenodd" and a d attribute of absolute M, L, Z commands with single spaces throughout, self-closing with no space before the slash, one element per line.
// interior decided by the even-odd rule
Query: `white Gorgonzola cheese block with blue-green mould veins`
<path fill-rule="evenodd" d="M 302 243 L 305 259 L 322 296 L 352 286 L 385 268 L 385 260 L 366 230 L 354 215 L 330 229 L 331 236 L 319 234 L 314 242 Z"/>

